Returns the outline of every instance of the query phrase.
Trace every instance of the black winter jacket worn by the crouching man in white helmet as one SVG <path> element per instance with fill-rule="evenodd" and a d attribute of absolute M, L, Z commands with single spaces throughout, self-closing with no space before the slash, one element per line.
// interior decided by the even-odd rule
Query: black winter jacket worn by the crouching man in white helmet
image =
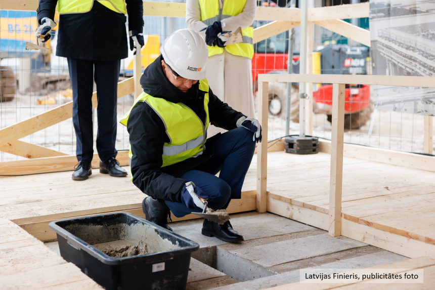
<path fill-rule="evenodd" d="M 150 64 L 141 77 L 144 92 L 173 103 L 183 102 L 205 122 L 204 94 L 199 90 L 199 81 L 186 93 L 173 86 L 164 75 L 160 55 Z M 233 110 L 208 91 L 208 112 L 212 125 L 226 130 L 236 128 L 237 120 L 244 116 Z M 127 122 L 130 146 L 133 152 L 131 170 L 133 183 L 145 194 L 164 200 L 181 202 L 181 190 L 187 180 L 180 178 L 184 173 L 194 169 L 211 156 L 205 149 L 196 158 L 161 168 L 163 144 L 169 142 L 163 121 L 146 102 L 141 102 L 130 113 Z M 211 137 L 213 138 L 213 137 Z M 211 139 L 210 138 L 210 139 Z M 209 139 L 207 139 L 209 142 Z M 207 143 L 205 143 L 207 148 Z"/>

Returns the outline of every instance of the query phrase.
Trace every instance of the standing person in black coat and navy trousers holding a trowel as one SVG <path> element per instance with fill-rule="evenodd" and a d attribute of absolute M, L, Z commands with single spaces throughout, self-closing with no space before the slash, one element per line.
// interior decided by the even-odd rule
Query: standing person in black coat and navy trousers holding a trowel
<path fill-rule="evenodd" d="M 57 4 L 60 18 L 56 55 L 68 60 L 73 92 L 72 118 L 78 165 L 72 179 L 85 180 L 92 174 L 94 79 L 98 99 L 100 173 L 126 176 L 126 171 L 115 159 L 117 84 L 121 59 L 128 56 L 126 13 L 130 50 L 135 47 L 134 36 L 141 46 L 144 45 L 142 0 L 39 0 L 40 26 L 35 35 L 42 42 L 50 38 L 50 31 L 56 25 L 53 20 Z"/>

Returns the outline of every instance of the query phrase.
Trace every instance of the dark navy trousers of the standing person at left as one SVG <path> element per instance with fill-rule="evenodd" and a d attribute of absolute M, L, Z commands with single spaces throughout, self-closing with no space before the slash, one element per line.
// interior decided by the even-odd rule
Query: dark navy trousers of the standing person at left
<path fill-rule="evenodd" d="M 94 132 L 92 123 L 92 93 L 97 85 L 97 151 L 106 162 L 116 157 L 116 106 L 120 60 L 95 61 L 68 58 L 72 84 L 72 122 L 77 141 L 78 161 L 92 161 Z M 95 72 L 94 72 L 95 68 Z"/>

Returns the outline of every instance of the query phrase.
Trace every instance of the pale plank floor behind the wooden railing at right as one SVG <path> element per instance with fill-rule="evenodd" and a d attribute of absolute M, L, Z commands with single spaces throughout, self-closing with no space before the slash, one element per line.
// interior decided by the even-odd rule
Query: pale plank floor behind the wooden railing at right
<path fill-rule="evenodd" d="M 281 162 L 288 160 L 284 153 L 274 154 L 282 155 Z M 279 158 L 274 158 L 279 162 Z M 347 159 L 352 158 L 344 158 L 344 164 Z M 320 169 L 325 165 L 322 162 L 327 163 L 325 159 L 318 163 Z M 269 167 L 274 165 L 269 164 Z M 350 165 L 347 170 L 344 165 L 343 168 L 344 214 L 375 228 L 432 242 L 435 237 L 435 222 L 432 222 L 435 215 L 435 180 L 432 173 L 376 162 Z M 325 172 L 319 173 L 315 167 L 299 170 L 297 164 L 288 177 L 282 176 L 285 174 L 274 179 L 274 175 L 268 173 L 268 191 L 289 198 L 293 204 L 327 211 L 329 183 Z"/>

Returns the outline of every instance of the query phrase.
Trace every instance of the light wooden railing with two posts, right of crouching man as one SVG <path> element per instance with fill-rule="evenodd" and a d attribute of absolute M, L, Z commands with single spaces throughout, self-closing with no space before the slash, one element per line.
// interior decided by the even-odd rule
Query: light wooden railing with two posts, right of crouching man
<path fill-rule="evenodd" d="M 348 227 L 354 228 L 349 224 L 349 220 L 344 218 L 341 213 L 341 196 L 342 196 L 342 176 L 343 176 L 343 135 L 344 135 L 344 89 L 345 84 L 358 85 L 380 85 L 380 86 L 399 86 L 399 87 L 425 87 L 435 88 L 432 77 L 418 76 L 379 76 L 379 75 L 328 75 L 328 74 L 260 74 L 258 76 L 258 96 L 262 96 L 262 124 L 263 133 L 267 135 L 268 127 L 265 120 L 264 110 L 267 110 L 268 94 L 267 88 L 269 82 L 309 82 L 309 83 L 329 83 L 333 84 L 332 92 L 332 139 L 330 143 L 331 167 L 330 167 L 330 191 L 329 191 L 329 235 L 339 236 L 349 234 L 355 236 L 355 233 L 349 233 Z M 259 144 L 258 152 L 264 152 L 267 144 Z M 357 146 L 362 147 L 362 146 Z M 417 154 L 399 153 L 402 158 L 412 157 Z M 408 155 L 409 154 L 409 155 Z M 427 157 L 430 166 L 435 166 L 435 157 Z M 432 169 L 433 171 L 433 169 Z M 272 193 L 269 193 L 272 195 Z M 263 212 L 269 208 L 267 198 L 267 157 L 263 154 L 257 154 L 257 212 Z M 264 204 L 266 200 L 266 204 Z M 313 217 L 314 218 L 314 217 Z M 344 218 L 344 219 L 343 219 Z M 317 219 L 317 218 L 316 218 Z M 324 220 L 324 218 L 322 218 Z M 319 221 L 313 221 L 315 223 Z M 324 228 L 324 224 L 319 226 Z M 357 233 L 358 234 L 358 233 Z M 352 236 L 349 236 L 352 238 Z M 367 242 L 367 241 L 366 241 Z M 390 250 L 390 249 L 387 249 Z M 435 248 L 434 248 L 435 250 Z M 393 251 L 393 250 L 390 250 Z M 431 250 L 432 251 L 432 250 Z M 393 251 L 395 252 L 395 251 Z M 396 252 L 398 253 L 398 252 Z"/>

